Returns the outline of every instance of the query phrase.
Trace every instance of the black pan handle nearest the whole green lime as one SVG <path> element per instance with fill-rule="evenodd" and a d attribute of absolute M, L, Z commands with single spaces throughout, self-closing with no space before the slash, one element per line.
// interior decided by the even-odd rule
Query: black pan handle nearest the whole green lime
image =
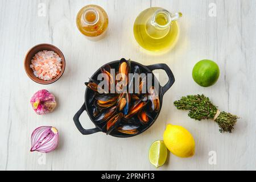
<path fill-rule="evenodd" d="M 174 74 L 172 73 L 171 69 L 168 67 L 167 64 L 152 64 L 152 65 L 148 65 L 147 68 L 150 69 L 151 71 L 155 69 L 163 69 L 164 71 L 166 71 L 169 77 L 169 80 L 166 85 L 160 87 L 162 94 L 164 95 L 167 92 L 167 90 L 169 90 L 175 82 Z"/>

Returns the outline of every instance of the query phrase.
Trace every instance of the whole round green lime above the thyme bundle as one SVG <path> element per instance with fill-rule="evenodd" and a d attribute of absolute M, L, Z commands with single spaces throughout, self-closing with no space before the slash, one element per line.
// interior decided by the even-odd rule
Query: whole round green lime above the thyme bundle
<path fill-rule="evenodd" d="M 201 60 L 193 68 L 192 76 L 197 84 L 208 87 L 217 82 L 220 69 L 214 61 Z"/>

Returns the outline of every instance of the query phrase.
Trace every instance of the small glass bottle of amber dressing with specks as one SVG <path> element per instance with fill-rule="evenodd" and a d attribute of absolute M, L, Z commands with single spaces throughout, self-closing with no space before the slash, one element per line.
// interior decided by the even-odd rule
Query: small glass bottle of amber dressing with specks
<path fill-rule="evenodd" d="M 100 38 L 108 28 L 109 18 L 102 7 L 87 5 L 77 14 L 76 24 L 79 31 L 88 38 Z"/>

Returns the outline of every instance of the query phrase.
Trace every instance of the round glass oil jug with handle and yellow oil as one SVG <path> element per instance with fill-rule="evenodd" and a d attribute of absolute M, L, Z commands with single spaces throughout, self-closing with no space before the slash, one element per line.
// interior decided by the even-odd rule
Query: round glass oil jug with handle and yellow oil
<path fill-rule="evenodd" d="M 175 46 L 179 37 L 176 22 L 181 13 L 171 14 L 161 7 L 142 11 L 134 23 L 134 36 L 138 44 L 154 52 L 166 52 Z"/>

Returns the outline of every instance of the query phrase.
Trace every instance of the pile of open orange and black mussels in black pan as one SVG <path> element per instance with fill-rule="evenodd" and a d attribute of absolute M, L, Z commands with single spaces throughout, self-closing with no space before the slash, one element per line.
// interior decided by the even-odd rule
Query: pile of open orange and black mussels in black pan
<path fill-rule="evenodd" d="M 101 73 L 104 73 L 104 88 L 99 86 L 99 81 L 92 78 L 85 82 L 85 85 L 93 90 L 89 104 L 92 106 L 94 122 L 102 124 L 106 134 L 115 130 L 123 134 L 136 135 L 140 128 L 150 124 L 154 120 L 154 115 L 159 112 L 158 92 L 155 86 L 147 86 L 147 76 L 136 77 L 141 74 L 141 69 L 138 65 L 131 68 L 130 60 L 119 61 L 119 71 L 115 72 L 118 81 L 110 74 L 110 69 L 110 65 L 101 68 Z M 129 73 L 133 73 L 130 79 Z M 111 85 L 114 85 L 114 93 L 110 92 Z M 135 90 L 135 86 L 138 86 L 138 93 L 130 92 Z M 145 87 L 146 93 L 142 92 Z"/>

